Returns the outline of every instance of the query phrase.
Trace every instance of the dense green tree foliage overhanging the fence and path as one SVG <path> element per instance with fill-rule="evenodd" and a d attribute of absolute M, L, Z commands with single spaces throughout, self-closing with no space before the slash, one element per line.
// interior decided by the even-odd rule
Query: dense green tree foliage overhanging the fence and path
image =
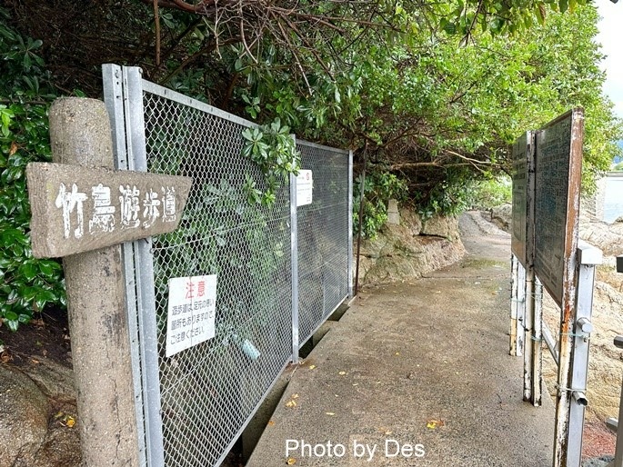
<path fill-rule="evenodd" d="M 594 187 L 623 134 L 601 92 L 597 12 L 584 3 L 6 0 L 0 313 L 15 328 L 63 301 L 57 263 L 30 256 L 23 170 L 49 157 L 53 94 L 100 97 L 101 64 L 140 66 L 151 81 L 263 125 L 244 136 L 266 177 L 247 180 L 252 203 L 269 206 L 296 171 L 288 132 L 353 149 L 359 173 L 366 153 L 362 233 L 373 235 L 388 196 L 425 217 L 464 209 L 474 183 L 509 171 L 509 143 L 575 106 L 586 111 L 584 187 Z"/>

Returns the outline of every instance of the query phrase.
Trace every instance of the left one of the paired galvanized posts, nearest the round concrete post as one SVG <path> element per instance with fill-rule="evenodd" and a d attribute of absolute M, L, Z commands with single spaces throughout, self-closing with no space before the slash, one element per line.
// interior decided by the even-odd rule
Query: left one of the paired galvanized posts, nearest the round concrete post
<path fill-rule="evenodd" d="M 110 117 L 113 132 L 113 152 L 115 168 L 134 170 L 134 164 L 127 160 L 126 119 L 124 115 L 123 75 L 121 66 L 102 65 L 104 80 L 104 103 Z M 146 464 L 145 415 L 143 412 L 143 388 L 141 385 L 140 341 L 138 338 L 138 312 L 136 308 L 136 280 L 134 264 L 134 244 L 121 245 L 124 277 L 126 279 L 126 312 L 130 334 L 130 359 L 134 381 L 136 432 L 138 438 L 138 461 Z"/>

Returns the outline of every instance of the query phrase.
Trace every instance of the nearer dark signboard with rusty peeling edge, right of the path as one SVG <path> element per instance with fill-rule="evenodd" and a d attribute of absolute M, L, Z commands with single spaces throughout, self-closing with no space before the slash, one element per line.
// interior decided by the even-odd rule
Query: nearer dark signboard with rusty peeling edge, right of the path
<path fill-rule="evenodd" d="M 575 109 L 537 133 L 534 267 L 559 305 L 575 273 L 583 128 Z"/>

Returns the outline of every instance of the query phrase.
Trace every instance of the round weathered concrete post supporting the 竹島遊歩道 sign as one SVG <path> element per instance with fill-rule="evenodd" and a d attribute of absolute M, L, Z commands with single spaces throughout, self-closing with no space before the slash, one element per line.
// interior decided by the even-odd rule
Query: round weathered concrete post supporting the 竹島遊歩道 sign
<path fill-rule="evenodd" d="M 114 168 L 108 113 L 95 99 L 50 109 L 55 163 Z M 138 466 L 130 340 L 119 245 L 64 258 L 83 465 Z"/>

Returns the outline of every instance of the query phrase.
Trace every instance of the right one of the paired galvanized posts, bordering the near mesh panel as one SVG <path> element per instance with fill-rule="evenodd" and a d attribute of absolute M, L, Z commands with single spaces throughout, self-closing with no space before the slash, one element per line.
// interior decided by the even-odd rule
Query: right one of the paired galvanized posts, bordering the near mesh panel
<path fill-rule="evenodd" d="M 147 172 L 143 78 L 138 67 L 122 68 L 128 167 Z M 146 412 L 146 452 L 150 466 L 165 465 L 162 432 L 158 338 L 156 325 L 156 286 L 151 238 L 134 243 L 136 303 L 141 347 L 141 367 Z"/>

